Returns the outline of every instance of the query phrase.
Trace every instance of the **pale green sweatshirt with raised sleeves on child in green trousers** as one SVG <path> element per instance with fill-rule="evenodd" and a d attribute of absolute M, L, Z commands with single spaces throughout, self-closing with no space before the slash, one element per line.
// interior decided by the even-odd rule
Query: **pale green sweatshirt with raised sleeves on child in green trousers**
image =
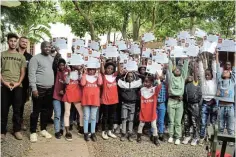
<path fill-rule="evenodd" d="M 184 65 L 181 69 L 181 76 L 175 77 L 174 74 L 172 73 L 173 70 L 172 61 L 169 60 L 169 71 L 168 71 L 169 96 L 183 96 L 185 80 L 188 75 L 188 64 L 189 61 L 185 60 Z"/>

